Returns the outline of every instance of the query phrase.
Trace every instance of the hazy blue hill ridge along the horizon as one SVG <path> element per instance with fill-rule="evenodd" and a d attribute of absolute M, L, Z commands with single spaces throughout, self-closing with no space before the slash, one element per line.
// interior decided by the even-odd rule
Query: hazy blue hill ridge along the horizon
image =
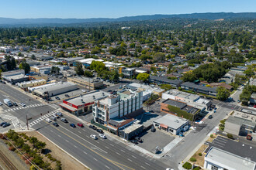
<path fill-rule="evenodd" d="M 256 12 L 217 12 L 217 13 L 193 13 L 193 14 L 178 14 L 178 15 L 138 15 L 125 16 L 117 19 L 109 18 L 93 18 L 93 19 L 12 19 L 1 18 L 0 25 L 16 25 L 16 24 L 72 24 L 85 22 L 123 22 L 123 21 L 141 21 L 154 19 L 169 19 L 169 18 L 183 18 L 183 19 L 256 19 Z"/>

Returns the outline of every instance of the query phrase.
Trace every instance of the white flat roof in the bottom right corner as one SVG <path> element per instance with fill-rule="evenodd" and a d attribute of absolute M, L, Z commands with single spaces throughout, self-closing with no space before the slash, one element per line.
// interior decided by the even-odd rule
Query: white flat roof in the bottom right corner
<path fill-rule="evenodd" d="M 234 155 L 230 152 L 223 151 L 220 148 L 210 148 L 206 154 L 206 160 L 209 162 L 217 162 L 217 165 L 222 165 L 226 169 L 243 169 L 254 170 L 256 163 L 242 158 L 238 155 Z"/>

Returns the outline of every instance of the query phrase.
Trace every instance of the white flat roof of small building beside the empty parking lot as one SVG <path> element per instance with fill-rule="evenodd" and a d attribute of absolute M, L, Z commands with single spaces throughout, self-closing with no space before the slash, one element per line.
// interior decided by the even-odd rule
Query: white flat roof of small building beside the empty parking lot
<path fill-rule="evenodd" d="M 182 117 L 177 117 L 171 114 L 166 114 L 163 117 L 160 117 L 159 119 L 153 121 L 157 124 L 164 124 L 167 125 L 170 128 L 178 129 L 183 124 L 186 124 L 188 120 L 183 119 Z"/>

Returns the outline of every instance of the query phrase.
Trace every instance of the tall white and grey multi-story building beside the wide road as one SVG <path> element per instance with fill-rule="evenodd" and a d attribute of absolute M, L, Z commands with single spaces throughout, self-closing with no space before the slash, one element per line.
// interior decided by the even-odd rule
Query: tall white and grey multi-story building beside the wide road
<path fill-rule="evenodd" d="M 95 100 L 92 107 L 94 121 L 99 124 L 108 124 L 114 117 L 124 117 L 143 113 L 142 91 L 120 90 L 116 95 L 110 95 L 102 100 Z"/>

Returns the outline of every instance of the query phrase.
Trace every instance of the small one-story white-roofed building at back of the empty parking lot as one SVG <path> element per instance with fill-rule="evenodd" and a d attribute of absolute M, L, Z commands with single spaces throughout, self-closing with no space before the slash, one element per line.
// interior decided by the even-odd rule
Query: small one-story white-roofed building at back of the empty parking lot
<path fill-rule="evenodd" d="M 153 121 L 154 127 L 168 131 L 171 134 L 178 135 L 182 131 L 187 131 L 189 128 L 189 121 L 182 118 L 176 117 L 171 114 L 166 114 L 163 117 Z"/>

